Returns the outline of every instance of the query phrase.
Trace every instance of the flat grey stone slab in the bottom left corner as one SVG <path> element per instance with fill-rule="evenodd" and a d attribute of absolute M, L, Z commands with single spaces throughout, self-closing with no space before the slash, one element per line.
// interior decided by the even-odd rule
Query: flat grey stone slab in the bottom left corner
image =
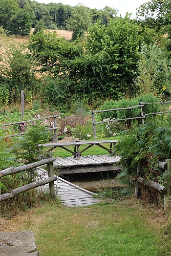
<path fill-rule="evenodd" d="M 34 233 L 32 231 L 0 231 L 1 256 L 38 256 Z"/>

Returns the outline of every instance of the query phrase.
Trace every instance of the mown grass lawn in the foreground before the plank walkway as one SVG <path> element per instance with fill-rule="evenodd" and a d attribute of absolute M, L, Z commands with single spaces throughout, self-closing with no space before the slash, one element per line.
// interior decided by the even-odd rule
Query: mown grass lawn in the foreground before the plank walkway
<path fill-rule="evenodd" d="M 3 231 L 32 230 L 40 256 L 171 252 L 162 212 L 130 199 L 73 208 L 54 201 L 2 223 Z"/>

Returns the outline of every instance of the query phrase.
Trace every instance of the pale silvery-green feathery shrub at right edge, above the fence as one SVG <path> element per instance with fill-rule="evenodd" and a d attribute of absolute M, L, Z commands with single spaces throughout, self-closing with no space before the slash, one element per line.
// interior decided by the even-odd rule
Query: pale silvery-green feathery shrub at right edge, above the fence
<path fill-rule="evenodd" d="M 155 93 L 160 97 L 170 94 L 170 60 L 163 48 L 157 45 L 141 46 L 138 60 L 138 76 L 135 87 L 139 94 Z"/>

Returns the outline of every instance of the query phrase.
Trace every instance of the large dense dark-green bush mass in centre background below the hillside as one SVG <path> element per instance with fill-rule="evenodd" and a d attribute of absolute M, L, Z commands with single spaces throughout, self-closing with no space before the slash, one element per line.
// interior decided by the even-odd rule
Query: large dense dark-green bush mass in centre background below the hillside
<path fill-rule="evenodd" d="M 153 41 L 152 33 L 145 36 L 142 27 L 129 16 L 111 19 L 107 27 L 100 22 L 94 24 L 86 42 L 68 42 L 55 33 L 37 33 L 31 37 L 29 49 L 41 65 L 39 71 L 50 75 L 46 78 L 44 97 L 57 97 L 54 102 L 61 105 L 66 95 L 67 104 L 75 94 L 83 100 L 87 98 L 89 104 L 100 97 L 134 95 L 139 47 L 142 41 Z"/>

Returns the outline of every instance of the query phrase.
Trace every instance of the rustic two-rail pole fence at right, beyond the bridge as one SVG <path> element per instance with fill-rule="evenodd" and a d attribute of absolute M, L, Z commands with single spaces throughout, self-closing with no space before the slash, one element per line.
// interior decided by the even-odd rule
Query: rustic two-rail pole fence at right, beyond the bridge
<path fill-rule="evenodd" d="M 118 109 L 110 109 L 110 110 L 99 110 L 99 111 L 91 111 L 91 116 L 92 116 L 92 126 L 93 126 L 93 136 L 95 139 L 97 139 L 97 133 L 96 133 L 96 125 L 97 124 L 101 124 L 101 123 L 110 123 L 110 122 L 118 122 L 118 121 L 126 121 L 126 120 L 135 120 L 135 119 L 141 119 L 141 123 L 144 124 L 144 119 L 146 118 L 146 116 L 148 116 L 149 114 L 151 115 L 158 115 L 158 114 L 165 114 L 165 113 L 171 113 L 171 111 L 162 111 L 162 112 L 155 112 L 155 113 L 148 113 L 148 114 L 143 114 L 143 107 L 145 105 L 151 104 L 151 102 L 139 102 L 139 105 L 135 105 L 135 106 L 129 106 L 127 108 L 118 108 Z M 165 102 L 155 102 L 155 104 L 171 104 L 171 101 L 165 101 Z M 111 119 L 111 120 L 107 120 L 107 121 L 100 121 L 100 122 L 96 122 L 95 121 L 95 116 L 94 114 L 97 113 L 104 113 L 104 112 L 111 112 L 111 111 L 119 111 L 119 110 L 132 110 L 135 108 L 140 108 L 140 116 L 137 117 L 130 117 L 130 118 L 120 118 L 120 119 Z"/>

